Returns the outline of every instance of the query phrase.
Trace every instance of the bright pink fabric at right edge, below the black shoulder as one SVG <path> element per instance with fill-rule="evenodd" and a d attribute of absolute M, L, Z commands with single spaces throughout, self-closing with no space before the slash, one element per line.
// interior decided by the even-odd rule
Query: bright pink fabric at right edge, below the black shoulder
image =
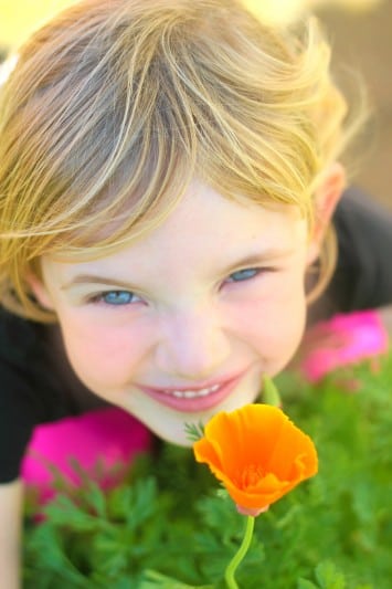
<path fill-rule="evenodd" d="M 316 382 L 336 368 L 384 354 L 388 346 L 386 330 L 375 311 L 336 315 L 307 334 L 300 370 Z"/>

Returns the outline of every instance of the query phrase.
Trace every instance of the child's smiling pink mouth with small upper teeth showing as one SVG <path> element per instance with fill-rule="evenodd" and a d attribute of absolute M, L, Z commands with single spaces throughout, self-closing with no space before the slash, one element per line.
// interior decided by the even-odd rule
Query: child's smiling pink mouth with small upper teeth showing
<path fill-rule="evenodd" d="M 215 381 L 210 386 L 187 389 L 181 387 L 167 389 L 139 388 L 161 404 L 184 413 L 197 413 L 211 409 L 222 402 L 231 395 L 242 376 L 243 372 L 220 382 Z"/>

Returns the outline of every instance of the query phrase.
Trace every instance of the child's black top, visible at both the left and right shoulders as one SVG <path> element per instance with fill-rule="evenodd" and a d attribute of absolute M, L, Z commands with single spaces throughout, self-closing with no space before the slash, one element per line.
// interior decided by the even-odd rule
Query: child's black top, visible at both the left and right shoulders
<path fill-rule="evenodd" d="M 335 224 L 338 266 L 329 288 L 310 309 L 314 319 L 392 303 L 392 215 L 350 189 L 337 209 Z M 81 396 L 75 399 L 76 377 L 73 382 L 65 379 L 67 361 L 60 366 L 55 361 L 59 349 L 52 336 L 56 330 L 59 336 L 57 327 L 0 312 L 0 483 L 18 477 L 36 424 L 92 407 L 87 397 L 95 396 L 85 391 L 84 406 Z"/>

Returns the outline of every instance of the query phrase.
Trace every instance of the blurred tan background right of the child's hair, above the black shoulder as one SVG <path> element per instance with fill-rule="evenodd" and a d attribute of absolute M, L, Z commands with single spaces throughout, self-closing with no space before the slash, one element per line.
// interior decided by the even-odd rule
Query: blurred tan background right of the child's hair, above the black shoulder
<path fill-rule="evenodd" d="M 392 209 L 392 2 L 372 9 L 318 11 L 335 46 L 335 62 L 358 70 L 373 108 L 369 145 L 356 183 Z"/>

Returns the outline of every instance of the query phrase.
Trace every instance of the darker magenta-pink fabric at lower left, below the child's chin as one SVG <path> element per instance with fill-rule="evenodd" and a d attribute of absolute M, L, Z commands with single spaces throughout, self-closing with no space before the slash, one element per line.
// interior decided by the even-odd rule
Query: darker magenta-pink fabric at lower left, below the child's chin
<path fill-rule="evenodd" d="M 104 488 L 126 474 L 130 462 L 151 445 L 151 434 L 135 418 L 117 408 L 99 409 L 35 428 L 22 463 L 28 488 L 41 503 L 55 494 L 53 467 L 73 488 L 82 484 L 72 462 Z"/>

